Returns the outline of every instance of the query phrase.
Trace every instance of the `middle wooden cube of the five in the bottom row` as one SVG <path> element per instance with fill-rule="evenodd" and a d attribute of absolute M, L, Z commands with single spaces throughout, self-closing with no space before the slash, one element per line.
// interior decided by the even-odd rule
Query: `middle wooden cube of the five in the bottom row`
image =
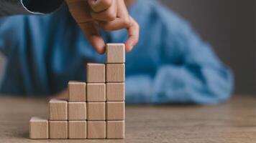
<path fill-rule="evenodd" d="M 68 139 L 86 139 L 86 121 L 68 121 Z"/>

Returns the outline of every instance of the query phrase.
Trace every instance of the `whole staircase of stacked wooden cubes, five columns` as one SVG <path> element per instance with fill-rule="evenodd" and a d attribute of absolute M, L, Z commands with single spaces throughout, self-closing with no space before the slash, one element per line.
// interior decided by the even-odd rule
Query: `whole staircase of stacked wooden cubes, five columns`
<path fill-rule="evenodd" d="M 68 101 L 51 99 L 49 120 L 32 117 L 31 139 L 122 139 L 124 44 L 106 44 L 106 64 L 87 64 L 86 82 L 68 83 Z"/>

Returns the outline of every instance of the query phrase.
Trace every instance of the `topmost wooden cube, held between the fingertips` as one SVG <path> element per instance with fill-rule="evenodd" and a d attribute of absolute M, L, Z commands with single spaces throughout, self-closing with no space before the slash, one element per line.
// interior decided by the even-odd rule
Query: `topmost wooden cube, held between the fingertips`
<path fill-rule="evenodd" d="M 125 46 L 124 44 L 106 44 L 106 63 L 124 63 Z"/>

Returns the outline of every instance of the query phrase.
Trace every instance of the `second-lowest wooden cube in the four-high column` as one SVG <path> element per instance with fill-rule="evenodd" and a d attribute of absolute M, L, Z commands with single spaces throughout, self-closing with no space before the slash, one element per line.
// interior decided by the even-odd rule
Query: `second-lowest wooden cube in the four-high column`
<path fill-rule="evenodd" d="M 105 102 L 87 102 L 87 120 L 99 121 L 106 119 Z"/>

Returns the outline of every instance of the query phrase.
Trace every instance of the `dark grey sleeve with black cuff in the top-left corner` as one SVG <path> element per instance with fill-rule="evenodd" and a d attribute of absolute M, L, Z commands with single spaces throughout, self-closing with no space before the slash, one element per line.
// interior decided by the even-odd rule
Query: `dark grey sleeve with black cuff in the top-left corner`
<path fill-rule="evenodd" d="M 63 0 L 0 0 L 0 17 L 16 14 L 47 14 L 63 3 Z"/>

